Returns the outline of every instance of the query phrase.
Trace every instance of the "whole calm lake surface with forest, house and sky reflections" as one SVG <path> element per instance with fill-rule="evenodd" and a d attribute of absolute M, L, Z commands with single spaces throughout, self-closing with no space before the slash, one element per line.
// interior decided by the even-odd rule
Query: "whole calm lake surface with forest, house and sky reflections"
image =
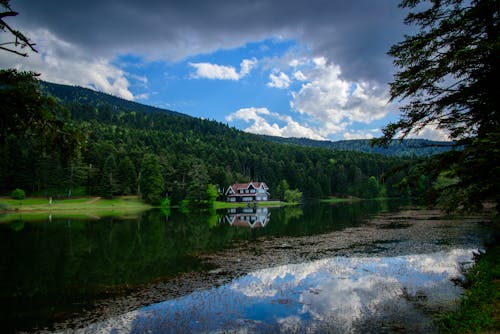
<path fill-rule="evenodd" d="M 395 201 L 0 223 L 2 328 L 436 331 L 492 237 Z"/>

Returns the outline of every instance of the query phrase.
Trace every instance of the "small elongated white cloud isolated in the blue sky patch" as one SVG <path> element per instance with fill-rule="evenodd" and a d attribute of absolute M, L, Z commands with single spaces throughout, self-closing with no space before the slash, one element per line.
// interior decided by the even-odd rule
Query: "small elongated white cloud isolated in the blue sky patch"
<path fill-rule="evenodd" d="M 251 72 L 257 65 L 257 60 L 255 58 L 243 59 L 240 64 L 239 72 L 237 72 L 233 66 L 212 63 L 189 63 L 189 65 L 196 69 L 196 72 L 192 75 L 195 79 L 205 78 L 212 80 L 238 81 Z"/>

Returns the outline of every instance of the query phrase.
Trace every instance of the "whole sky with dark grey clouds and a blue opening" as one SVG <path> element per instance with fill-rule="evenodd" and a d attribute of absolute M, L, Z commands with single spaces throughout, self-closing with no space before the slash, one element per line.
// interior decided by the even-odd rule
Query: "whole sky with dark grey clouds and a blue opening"
<path fill-rule="evenodd" d="M 398 119 L 398 0 L 12 0 L 36 43 L 0 68 L 281 137 L 373 138 Z M 0 35 L 0 42 L 6 34 Z M 413 137 L 445 140 L 425 128 Z"/>

